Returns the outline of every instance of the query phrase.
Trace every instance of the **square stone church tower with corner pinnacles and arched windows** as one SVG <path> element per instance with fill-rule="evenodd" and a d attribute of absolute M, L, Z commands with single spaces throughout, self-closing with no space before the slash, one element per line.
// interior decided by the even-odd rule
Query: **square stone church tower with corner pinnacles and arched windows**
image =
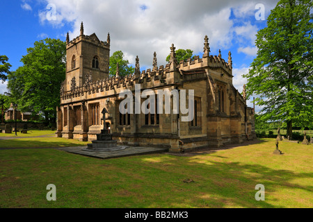
<path fill-rule="evenodd" d="M 84 35 L 81 22 L 80 35 L 70 41 L 66 37 L 66 77 L 64 91 L 81 87 L 86 78 L 91 81 L 102 80 L 109 76 L 110 35 L 106 42 L 100 41 L 97 35 Z M 90 80 L 90 79 L 89 79 Z"/>

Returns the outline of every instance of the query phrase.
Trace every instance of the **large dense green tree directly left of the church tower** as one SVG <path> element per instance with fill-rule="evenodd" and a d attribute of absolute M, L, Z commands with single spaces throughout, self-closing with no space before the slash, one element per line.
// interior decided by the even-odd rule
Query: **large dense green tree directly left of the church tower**
<path fill-rule="evenodd" d="M 65 42 L 47 38 L 35 42 L 22 57 L 23 66 L 8 75 L 8 89 L 22 111 L 43 112 L 56 121 L 60 85 L 65 80 Z"/>

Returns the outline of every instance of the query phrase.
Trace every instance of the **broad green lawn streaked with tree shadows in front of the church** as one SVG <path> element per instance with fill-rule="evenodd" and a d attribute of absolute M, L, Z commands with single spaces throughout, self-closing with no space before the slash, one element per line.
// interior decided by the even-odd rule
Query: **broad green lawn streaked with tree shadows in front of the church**
<path fill-rule="evenodd" d="M 0 150 L 0 207 L 313 207 L 313 145 L 280 142 L 284 155 L 274 149 L 275 139 L 262 139 L 210 154 L 109 160 Z M 49 184 L 56 201 L 46 199 Z M 264 201 L 255 200 L 257 184 Z"/>

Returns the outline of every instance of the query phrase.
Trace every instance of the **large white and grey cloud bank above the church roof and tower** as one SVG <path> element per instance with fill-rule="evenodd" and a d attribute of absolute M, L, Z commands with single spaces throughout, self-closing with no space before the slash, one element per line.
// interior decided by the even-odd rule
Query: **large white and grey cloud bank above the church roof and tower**
<path fill-rule="evenodd" d="M 165 65 L 172 43 L 176 49 L 202 52 L 205 35 L 209 37 L 211 51 L 230 49 L 234 37 L 240 39 L 245 36 L 249 44 L 243 42 L 240 46 L 243 53 L 250 53 L 244 48 L 253 46 L 252 34 L 257 29 L 249 23 L 234 29 L 234 21 L 230 19 L 232 10 L 243 20 L 255 13 L 253 3 L 247 0 L 42 2 L 46 6 L 54 4 L 55 19 L 47 19 L 47 13 L 51 9 L 43 8 L 39 12 L 40 22 L 48 22 L 53 26 L 63 26 L 65 22 L 70 22 L 70 39 L 79 35 L 81 22 L 86 35 L 96 33 L 100 40 L 106 41 L 107 33 L 110 33 L 111 53 L 121 50 L 129 62 L 134 62 L 134 58 L 138 56 L 141 67 L 152 67 L 154 51 L 157 52 L 158 65 Z M 271 3 L 270 0 L 266 2 Z"/>

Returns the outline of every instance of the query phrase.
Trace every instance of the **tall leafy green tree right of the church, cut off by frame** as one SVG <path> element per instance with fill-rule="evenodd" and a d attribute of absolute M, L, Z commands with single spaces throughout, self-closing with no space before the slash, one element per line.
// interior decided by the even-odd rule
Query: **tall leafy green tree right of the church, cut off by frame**
<path fill-rule="evenodd" d="M 284 121 L 292 137 L 292 124 L 313 121 L 312 1 L 282 0 L 271 10 L 267 27 L 257 33 L 257 58 L 246 85 L 257 94 L 264 120 Z"/>

